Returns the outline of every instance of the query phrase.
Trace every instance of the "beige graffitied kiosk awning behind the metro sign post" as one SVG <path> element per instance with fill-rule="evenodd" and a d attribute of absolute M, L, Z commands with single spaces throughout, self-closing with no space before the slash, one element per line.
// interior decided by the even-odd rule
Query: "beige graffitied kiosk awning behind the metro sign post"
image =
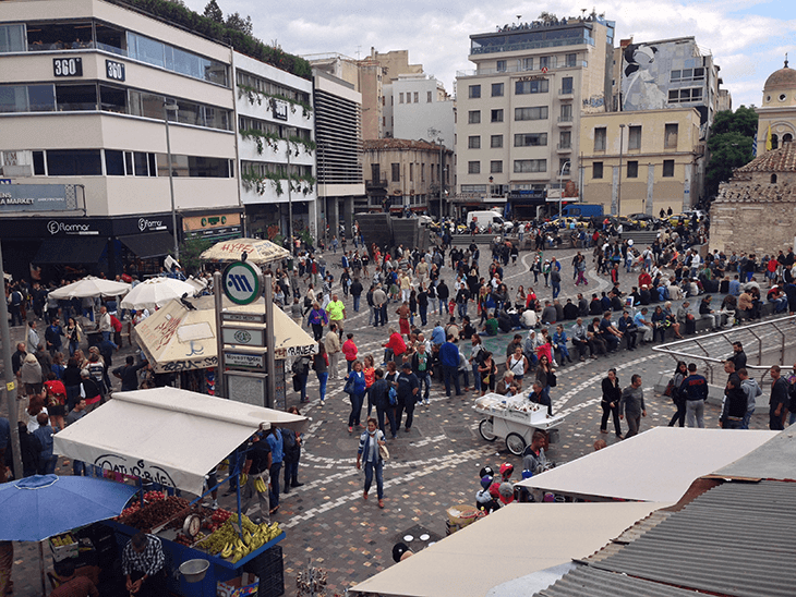
<path fill-rule="evenodd" d="M 192 301 L 198 308 L 190 310 L 180 301 L 171 301 L 135 326 L 138 344 L 157 373 L 177 373 L 215 367 L 216 314 L 213 297 Z M 225 301 L 225 309 L 263 313 L 263 301 L 234 305 Z M 314 354 L 317 342 L 280 308 L 274 309 L 276 357 Z"/>

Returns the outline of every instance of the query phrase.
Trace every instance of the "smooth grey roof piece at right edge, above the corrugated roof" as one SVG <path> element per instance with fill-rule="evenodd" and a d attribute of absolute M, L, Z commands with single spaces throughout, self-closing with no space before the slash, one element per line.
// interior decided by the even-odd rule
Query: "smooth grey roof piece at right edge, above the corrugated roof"
<path fill-rule="evenodd" d="M 788 427 L 757 450 L 715 471 L 711 477 L 796 479 L 796 428 Z"/>

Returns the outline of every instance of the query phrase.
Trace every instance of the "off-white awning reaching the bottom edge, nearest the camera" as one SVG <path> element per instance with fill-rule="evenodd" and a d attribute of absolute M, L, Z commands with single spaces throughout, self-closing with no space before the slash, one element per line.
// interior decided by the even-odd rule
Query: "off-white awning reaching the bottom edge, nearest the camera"
<path fill-rule="evenodd" d="M 591 556 L 636 522 L 668 505 L 511 503 L 349 592 L 484 597 L 508 581 Z"/>

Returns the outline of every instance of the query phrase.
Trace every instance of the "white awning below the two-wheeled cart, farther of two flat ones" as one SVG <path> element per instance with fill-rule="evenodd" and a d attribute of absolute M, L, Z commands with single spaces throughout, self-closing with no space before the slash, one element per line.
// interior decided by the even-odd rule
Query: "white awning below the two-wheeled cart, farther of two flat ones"
<path fill-rule="evenodd" d="M 518 485 L 571 496 L 676 502 L 696 479 L 775 435 L 751 429 L 654 427 Z"/>

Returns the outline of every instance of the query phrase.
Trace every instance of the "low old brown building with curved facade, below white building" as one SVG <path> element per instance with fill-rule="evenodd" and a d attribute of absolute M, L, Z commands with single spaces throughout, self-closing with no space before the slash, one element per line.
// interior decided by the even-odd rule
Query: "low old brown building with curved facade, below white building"
<path fill-rule="evenodd" d="M 445 197 L 450 186 L 450 171 L 441 169 L 441 163 L 450 161 L 449 149 L 402 138 L 365 139 L 363 148 L 371 211 L 439 214 L 441 191 Z"/>

